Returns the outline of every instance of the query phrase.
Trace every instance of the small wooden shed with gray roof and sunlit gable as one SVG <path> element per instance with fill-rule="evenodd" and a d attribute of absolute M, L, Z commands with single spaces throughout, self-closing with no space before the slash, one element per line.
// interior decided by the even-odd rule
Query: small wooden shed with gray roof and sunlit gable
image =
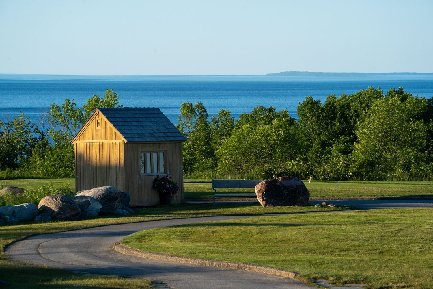
<path fill-rule="evenodd" d="M 158 205 L 156 175 L 179 183 L 172 202 L 184 198 L 185 137 L 155 107 L 99 108 L 71 140 L 76 191 L 112 186 L 131 195 L 130 206 Z"/>

